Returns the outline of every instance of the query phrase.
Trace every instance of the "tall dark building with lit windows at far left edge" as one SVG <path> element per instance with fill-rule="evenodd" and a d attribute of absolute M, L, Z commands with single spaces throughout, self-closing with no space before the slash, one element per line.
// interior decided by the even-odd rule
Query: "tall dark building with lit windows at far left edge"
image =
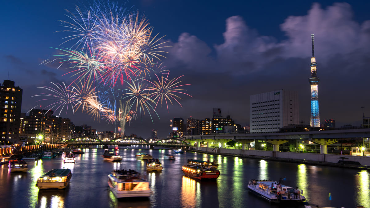
<path fill-rule="evenodd" d="M 16 143 L 19 140 L 19 128 L 23 90 L 14 85 L 14 81 L 4 80 L 0 85 L 0 140 Z"/>

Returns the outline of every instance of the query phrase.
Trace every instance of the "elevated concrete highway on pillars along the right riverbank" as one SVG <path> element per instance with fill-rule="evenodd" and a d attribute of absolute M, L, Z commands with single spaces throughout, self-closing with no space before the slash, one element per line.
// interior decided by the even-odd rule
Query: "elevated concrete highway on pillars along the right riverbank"
<path fill-rule="evenodd" d="M 189 135 L 179 138 L 191 146 L 200 147 L 201 142 L 206 142 L 207 147 L 225 148 L 226 142 L 235 141 L 242 144 L 246 150 L 247 144 L 255 140 L 263 140 L 273 144 L 273 151 L 279 151 L 279 145 L 289 140 L 308 140 L 320 145 L 320 154 L 327 154 L 327 145 L 336 143 L 339 139 L 370 138 L 370 129 L 326 130 L 326 131 L 301 131 L 279 132 L 261 134 L 207 134 Z"/>

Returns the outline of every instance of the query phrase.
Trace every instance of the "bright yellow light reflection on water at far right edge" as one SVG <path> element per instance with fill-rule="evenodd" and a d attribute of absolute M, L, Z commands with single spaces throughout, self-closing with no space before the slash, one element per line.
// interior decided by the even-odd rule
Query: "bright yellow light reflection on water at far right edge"
<path fill-rule="evenodd" d="M 363 205 L 364 207 L 370 207 L 370 197 L 369 197 L 369 172 L 361 171 L 357 174 L 358 184 L 357 184 L 357 204 Z"/>

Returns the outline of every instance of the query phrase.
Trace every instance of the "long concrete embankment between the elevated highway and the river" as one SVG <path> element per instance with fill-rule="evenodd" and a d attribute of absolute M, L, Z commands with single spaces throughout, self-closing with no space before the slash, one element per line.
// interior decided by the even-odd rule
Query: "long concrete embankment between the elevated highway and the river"
<path fill-rule="evenodd" d="M 364 156 L 314 154 L 299 152 L 276 152 L 261 150 L 234 150 L 209 147 L 189 147 L 189 151 L 213 155 L 224 155 L 233 157 L 255 158 L 263 160 L 275 160 L 283 162 L 296 162 L 312 165 L 326 165 L 334 167 L 358 168 L 370 170 L 370 157 Z"/>

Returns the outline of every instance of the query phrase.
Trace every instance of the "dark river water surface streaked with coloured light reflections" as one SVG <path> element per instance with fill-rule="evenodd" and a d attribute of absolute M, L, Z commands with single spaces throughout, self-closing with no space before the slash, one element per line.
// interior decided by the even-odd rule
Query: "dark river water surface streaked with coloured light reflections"
<path fill-rule="evenodd" d="M 113 149 L 110 149 L 113 150 Z M 284 185 L 298 186 L 310 204 L 320 207 L 354 208 L 360 204 L 370 208 L 370 174 L 368 171 L 266 161 L 238 157 L 172 150 L 119 149 L 121 162 L 104 161 L 104 149 L 86 148 L 76 155 L 75 164 L 63 164 L 61 157 L 27 161 L 27 173 L 11 173 L 7 165 L 0 166 L 1 208 L 192 208 L 192 207 L 297 207 L 276 205 L 248 192 L 249 179 L 283 181 Z M 147 152 L 159 158 L 162 172 L 146 172 L 145 162 L 137 160 L 137 152 Z M 164 154 L 174 154 L 176 160 L 164 160 Z M 218 162 L 221 172 L 216 181 L 197 181 L 185 177 L 181 166 L 188 158 Z M 72 179 L 63 190 L 39 190 L 38 177 L 55 168 L 69 168 Z M 152 195 L 144 201 L 118 201 L 109 191 L 107 175 L 113 169 L 134 169 L 147 174 Z M 331 200 L 329 200 L 329 193 Z"/>

